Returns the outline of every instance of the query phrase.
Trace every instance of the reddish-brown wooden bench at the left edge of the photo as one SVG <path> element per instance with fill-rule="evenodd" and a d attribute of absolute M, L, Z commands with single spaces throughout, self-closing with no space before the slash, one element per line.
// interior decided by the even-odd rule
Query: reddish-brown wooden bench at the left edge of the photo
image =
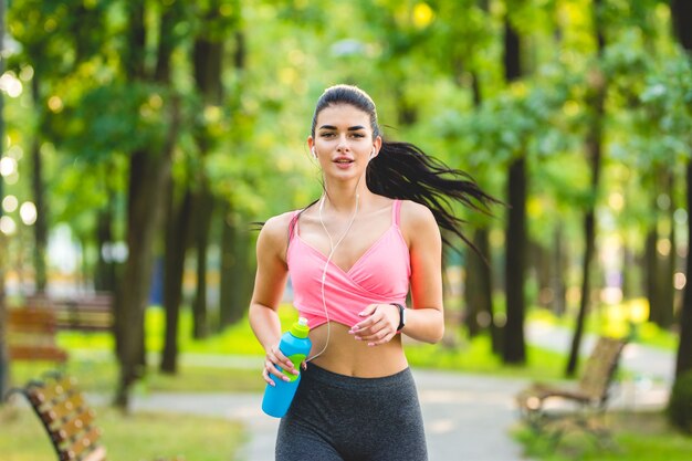
<path fill-rule="evenodd" d="M 54 362 L 64 364 L 67 352 L 57 346 L 57 318 L 46 308 L 8 310 L 7 344 L 10 360 Z"/>

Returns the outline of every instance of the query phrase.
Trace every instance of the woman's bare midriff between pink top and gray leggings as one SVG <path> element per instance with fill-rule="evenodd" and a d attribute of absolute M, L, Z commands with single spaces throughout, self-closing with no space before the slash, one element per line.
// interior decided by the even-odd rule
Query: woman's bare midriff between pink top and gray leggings
<path fill-rule="evenodd" d="M 348 326 L 332 322 L 329 344 L 326 350 L 311 363 L 339 375 L 358 378 L 380 378 L 395 375 L 408 367 L 401 335 L 377 346 L 368 346 L 367 340 L 358 340 L 349 334 Z M 313 328 L 311 355 L 318 354 L 327 340 L 327 324 Z M 307 365 L 310 367 L 310 364 Z"/>

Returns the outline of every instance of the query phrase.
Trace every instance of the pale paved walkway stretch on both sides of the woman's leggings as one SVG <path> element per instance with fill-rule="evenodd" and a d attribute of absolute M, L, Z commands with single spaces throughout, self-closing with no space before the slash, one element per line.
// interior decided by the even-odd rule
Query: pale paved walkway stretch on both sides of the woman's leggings
<path fill-rule="evenodd" d="M 522 380 L 415 370 L 430 461 L 521 460 L 521 448 L 507 436 L 515 422 L 512 396 Z M 135 409 L 162 409 L 242 420 L 251 439 L 245 461 L 272 461 L 279 420 L 265 416 L 258 394 L 166 395 L 135 399 Z"/>

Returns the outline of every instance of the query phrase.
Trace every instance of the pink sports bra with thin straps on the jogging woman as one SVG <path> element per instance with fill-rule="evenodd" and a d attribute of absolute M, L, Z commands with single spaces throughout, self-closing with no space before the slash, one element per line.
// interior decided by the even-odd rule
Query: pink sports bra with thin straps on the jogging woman
<path fill-rule="evenodd" d="M 411 264 L 409 250 L 399 229 L 401 202 L 391 206 L 391 226 L 345 272 L 329 261 L 324 295 L 329 321 L 353 326 L 368 304 L 406 303 Z M 289 240 L 286 261 L 293 285 L 293 305 L 311 328 L 327 322 L 322 303 L 322 274 L 327 256 L 301 239 L 298 211 Z M 292 221 L 293 223 L 293 221 Z M 338 250 L 337 250 L 338 251 Z"/>

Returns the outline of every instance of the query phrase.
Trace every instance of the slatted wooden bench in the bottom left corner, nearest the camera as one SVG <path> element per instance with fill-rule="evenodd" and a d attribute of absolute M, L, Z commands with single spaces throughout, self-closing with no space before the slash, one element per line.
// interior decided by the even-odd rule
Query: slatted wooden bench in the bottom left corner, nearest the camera
<path fill-rule="evenodd" d="M 22 394 L 48 432 L 59 461 L 105 461 L 96 415 L 73 377 L 49 374 L 8 394 Z M 167 461 L 157 459 L 157 461 Z M 176 457 L 168 461 L 184 461 Z"/>

